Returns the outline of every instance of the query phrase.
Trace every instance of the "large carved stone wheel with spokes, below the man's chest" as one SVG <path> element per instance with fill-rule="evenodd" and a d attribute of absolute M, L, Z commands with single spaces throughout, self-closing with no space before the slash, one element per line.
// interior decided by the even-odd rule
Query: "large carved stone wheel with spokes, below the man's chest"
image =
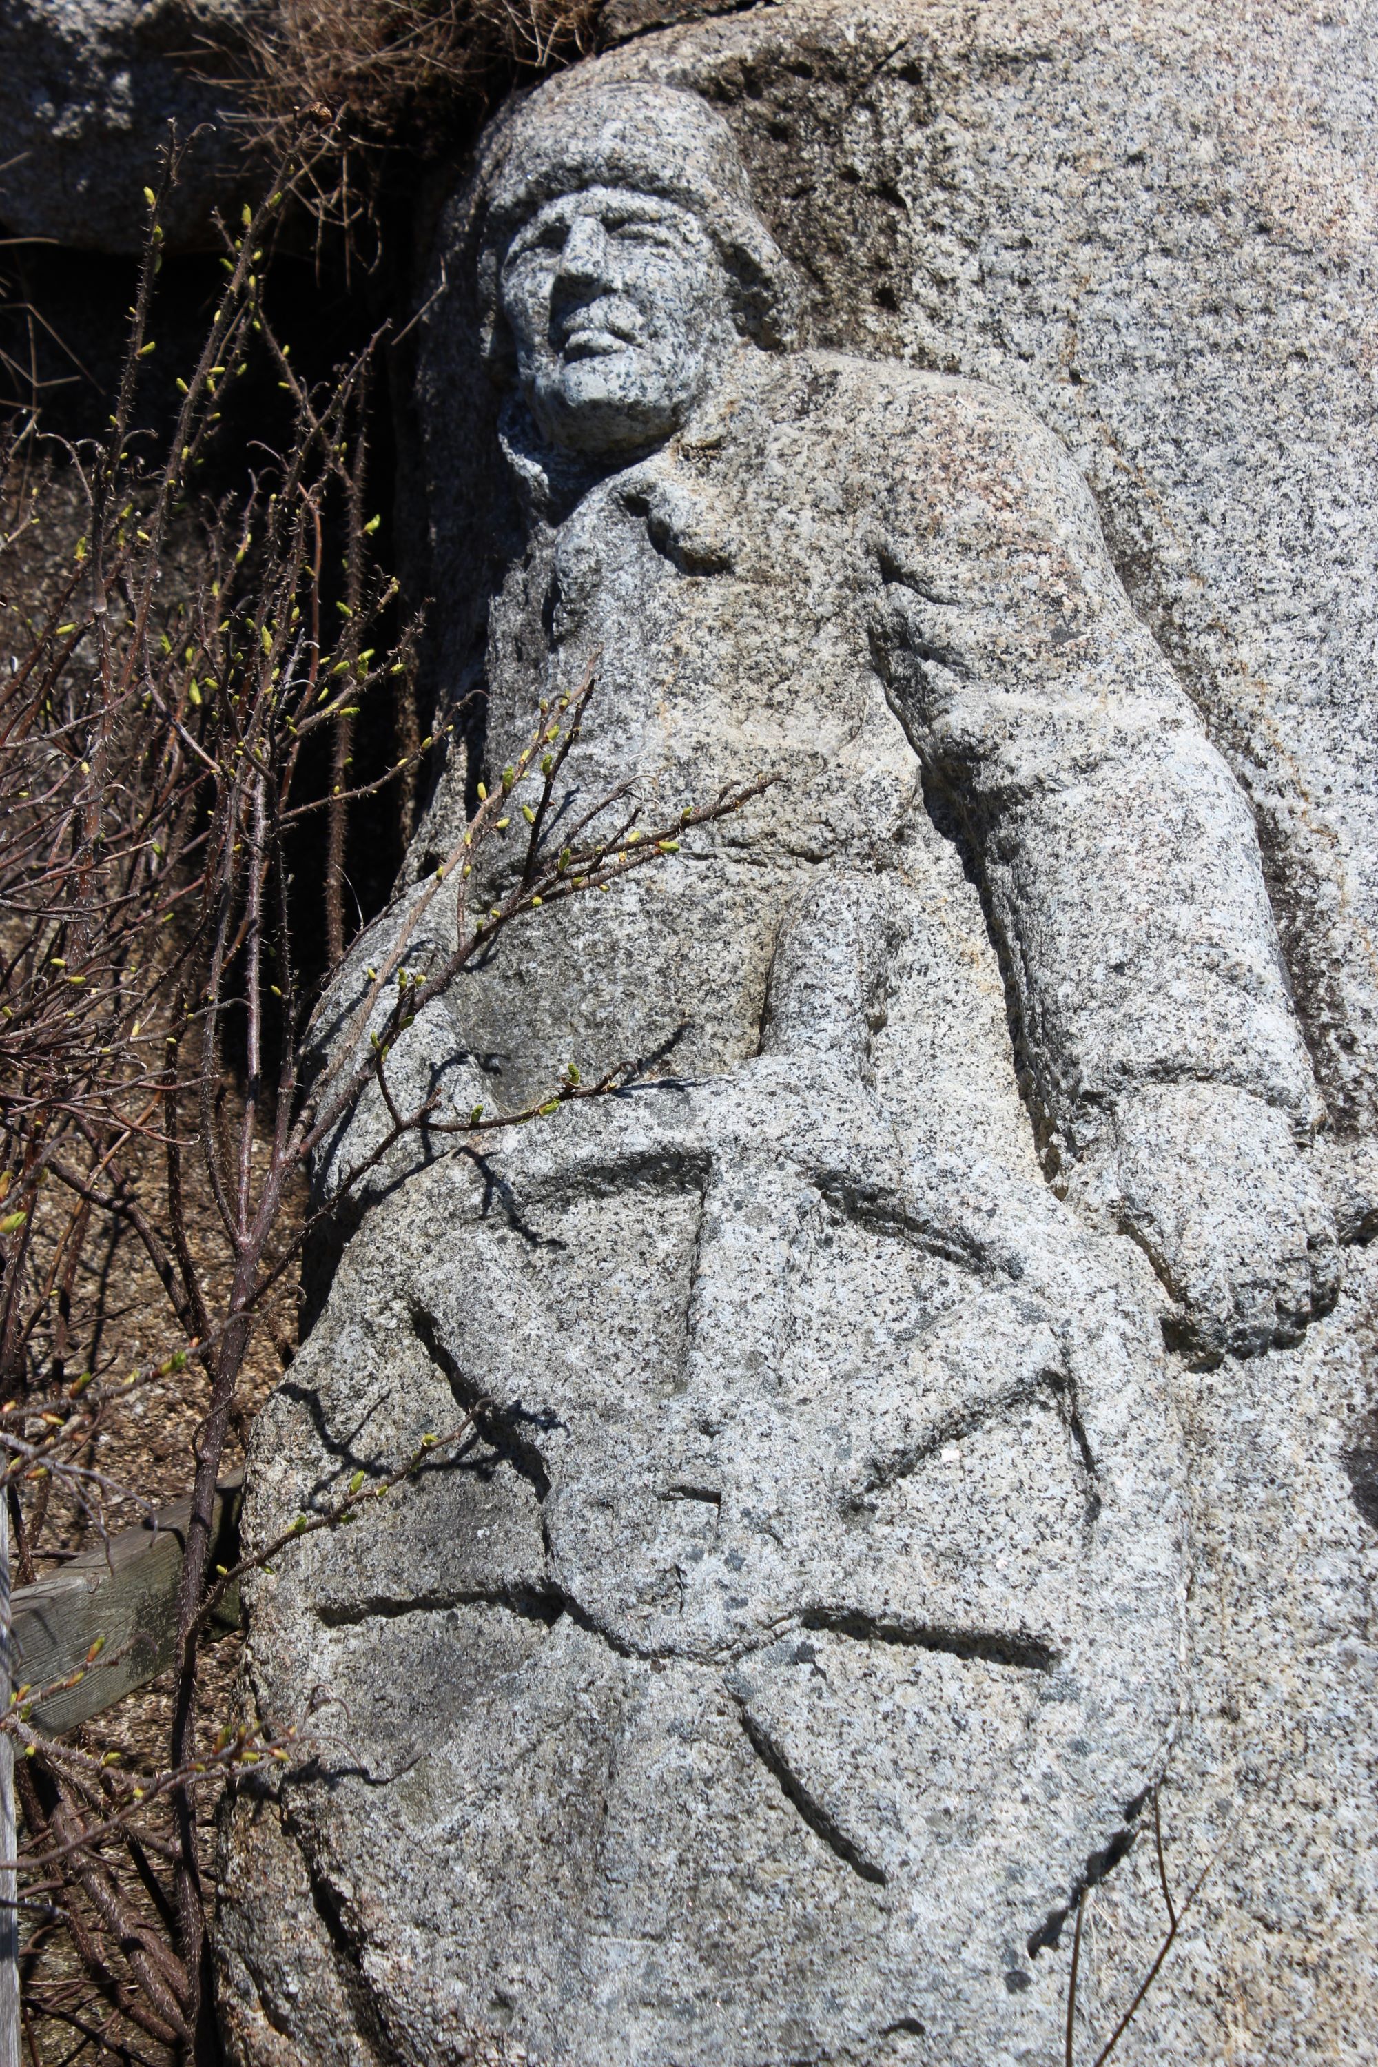
<path fill-rule="evenodd" d="M 1033 1951 L 1161 1771 L 1184 1565 L 1138 1273 L 797 1079 L 552 1124 L 498 1213 L 463 1162 L 415 1178 L 264 1424 L 277 1505 L 490 1395 L 258 1610 L 264 1711 L 324 1703 L 291 1840 L 382 2057 L 988 2057 L 1037 2038 Z M 260 1933 L 229 1922 L 256 1978 Z M 314 1991 L 258 1997 L 335 2057 Z"/>

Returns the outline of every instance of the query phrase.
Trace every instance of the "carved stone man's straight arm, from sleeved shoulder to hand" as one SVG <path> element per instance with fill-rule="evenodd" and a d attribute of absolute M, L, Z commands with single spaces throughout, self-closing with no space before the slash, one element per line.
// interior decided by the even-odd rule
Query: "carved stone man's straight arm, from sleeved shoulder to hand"
<path fill-rule="evenodd" d="M 1047 1174 L 1147 1248 L 1190 1348 L 1291 1341 L 1335 1296 L 1335 1230 L 1248 800 L 1068 455 L 946 393 L 944 465 L 919 455 L 874 546 L 872 643 L 979 870 Z"/>

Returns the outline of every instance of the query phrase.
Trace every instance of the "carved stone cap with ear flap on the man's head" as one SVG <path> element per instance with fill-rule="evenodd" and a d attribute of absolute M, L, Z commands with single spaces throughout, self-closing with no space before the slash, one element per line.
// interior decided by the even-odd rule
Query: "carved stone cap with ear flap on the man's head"
<path fill-rule="evenodd" d="M 479 169 L 479 325 L 490 364 L 510 356 L 498 273 L 512 236 L 547 200 L 589 186 L 692 209 L 723 260 L 744 335 L 775 351 L 802 343 L 800 283 L 756 213 L 723 118 L 676 87 L 566 76 L 498 126 Z"/>

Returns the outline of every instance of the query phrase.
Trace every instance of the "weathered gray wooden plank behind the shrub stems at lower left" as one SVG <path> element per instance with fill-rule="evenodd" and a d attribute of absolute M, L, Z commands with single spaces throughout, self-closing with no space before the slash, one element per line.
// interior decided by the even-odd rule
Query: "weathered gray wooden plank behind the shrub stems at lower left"
<path fill-rule="evenodd" d="M 231 1565 L 238 1556 L 240 1486 L 242 1474 L 236 1472 L 215 1488 L 213 1567 Z M 190 1511 L 190 1501 L 176 1501 L 153 1521 L 122 1530 L 48 1579 L 14 1590 L 14 1680 L 52 1687 L 72 1672 L 83 1674 L 74 1687 L 52 1693 L 33 1709 L 35 1728 L 48 1736 L 74 1730 L 174 1662 Z M 238 1625 L 238 1590 L 225 1596 L 217 1621 Z M 101 1652 L 87 1668 L 97 1637 Z"/>

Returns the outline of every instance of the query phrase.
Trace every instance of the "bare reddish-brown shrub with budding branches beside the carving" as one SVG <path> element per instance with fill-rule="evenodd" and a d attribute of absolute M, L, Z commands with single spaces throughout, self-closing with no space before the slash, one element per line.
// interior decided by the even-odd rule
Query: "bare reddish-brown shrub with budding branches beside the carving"
<path fill-rule="evenodd" d="M 463 984 L 510 928 L 665 864 L 686 833 L 769 788 L 758 779 L 653 810 L 628 777 L 560 825 L 560 783 L 597 692 L 591 668 L 574 692 L 541 705 L 514 765 L 395 924 L 328 1060 L 314 1060 L 312 1013 L 351 936 L 351 819 L 434 746 L 413 738 L 386 769 L 353 769 L 355 721 L 370 701 L 411 695 L 417 641 L 417 626 L 399 622 L 397 581 L 376 562 L 368 517 L 370 380 L 386 331 L 312 384 L 262 294 L 277 225 L 333 149 L 295 124 L 260 205 L 225 227 L 223 287 L 159 449 L 138 415 L 157 345 L 169 153 L 161 192 L 149 194 L 109 432 L 41 449 L 81 527 L 41 581 L 27 558 L 37 527 L 29 430 L 2 484 L 0 1497 L 21 1577 L 33 1579 L 48 1554 L 54 1505 L 97 1538 L 118 1503 L 151 1511 L 149 1494 L 101 1461 L 122 1414 L 169 1383 L 196 1385 L 202 1403 L 182 1459 L 190 1519 L 161 1757 L 134 1773 L 39 1736 L 31 1716 L 52 1689 L 23 1689 L 0 1718 L 21 1749 L 23 1900 L 39 1902 L 43 1929 L 68 1933 L 85 1974 L 85 1995 L 29 1986 L 27 2003 L 114 2034 L 101 2044 L 128 2050 L 138 2034 L 196 2059 L 215 2048 L 205 1800 L 227 1773 L 287 1755 L 248 1724 L 207 1720 L 215 1610 L 264 1556 L 345 1525 L 469 1432 L 461 1424 L 380 1480 L 359 1480 L 256 1559 L 213 1567 L 225 1445 L 248 1412 L 254 1358 L 279 1341 L 273 1298 L 287 1294 L 326 1211 L 304 1209 L 312 1158 L 370 1087 L 382 1135 L 337 1176 L 337 1201 L 421 1129 L 463 1153 L 494 1129 L 628 1083 L 632 1065 L 585 1083 L 570 1062 L 521 1110 L 446 1116 L 436 1098 L 401 1096 L 388 1062 L 415 1013 Z M 211 496 L 202 469 L 254 364 L 271 372 L 283 420 L 256 426 L 244 486 Z M 324 870 L 312 901 L 297 858 L 316 823 Z M 446 914 L 444 943 L 432 930 L 415 953 L 432 909 Z M 155 1288 L 140 1325 L 159 1352 L 120 1379 L 107 1259 L 124 1240 Z"/>

